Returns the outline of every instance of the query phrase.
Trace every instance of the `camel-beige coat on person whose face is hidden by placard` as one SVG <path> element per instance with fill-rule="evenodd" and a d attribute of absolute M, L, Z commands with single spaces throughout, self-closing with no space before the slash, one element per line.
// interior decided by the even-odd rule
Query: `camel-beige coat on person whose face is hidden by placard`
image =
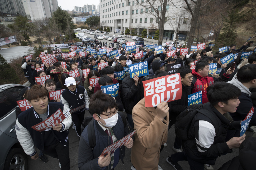
<path fill-rule="evenodd" d="M 154 107 L 145 107 L 145 98 L 132 110 L 134 143 L 131 162 L 137 170 L 158 170 L 161 144 L 167 141 L 169 114 L 166 121 L 157 117 Z"/>

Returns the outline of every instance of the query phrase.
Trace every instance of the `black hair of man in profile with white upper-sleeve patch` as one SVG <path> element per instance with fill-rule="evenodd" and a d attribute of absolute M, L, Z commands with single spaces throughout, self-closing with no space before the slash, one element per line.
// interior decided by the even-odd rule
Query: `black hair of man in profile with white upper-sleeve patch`
<path fill-rule="evenodd" d="M 226 103 L 228 100 L 236 99 L 241 95 L 241 91 L 233 84 L 226 82 L 216 82 L 207 87 L 208 101 L 215 106 L 219 102 Z"/>

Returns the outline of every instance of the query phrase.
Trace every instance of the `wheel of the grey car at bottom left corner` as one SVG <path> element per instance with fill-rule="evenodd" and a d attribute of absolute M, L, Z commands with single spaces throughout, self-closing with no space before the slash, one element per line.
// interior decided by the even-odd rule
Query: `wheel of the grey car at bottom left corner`
<path fill-rule="evenodd" d="M 27 155 L 21 148 L 12 148 L 7 154 L 4 170 L 9 169 L 20 169 L 28 170 Z"/>

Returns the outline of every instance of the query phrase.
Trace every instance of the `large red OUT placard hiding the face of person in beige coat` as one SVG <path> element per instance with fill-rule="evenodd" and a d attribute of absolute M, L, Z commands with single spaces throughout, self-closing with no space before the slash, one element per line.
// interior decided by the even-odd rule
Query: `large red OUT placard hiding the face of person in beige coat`
<path fill-rule="evenodd" d="M 143 86 L 145 107 L 181 99 L 182 87 L 179 73 L 143 81 Z"/>

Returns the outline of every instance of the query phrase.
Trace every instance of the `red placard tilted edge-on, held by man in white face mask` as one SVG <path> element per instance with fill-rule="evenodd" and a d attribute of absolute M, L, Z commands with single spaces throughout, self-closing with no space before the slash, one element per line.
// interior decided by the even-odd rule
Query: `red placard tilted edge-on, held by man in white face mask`
<path fill-rule="evenodd" d="M 137 130 L 137 129 L 136 129 L 136 130 Z M 127 142 L 130 140 L 130 138 L 134 135 L 134 133 L 136 132 L 136 130 L 133 131 L 132 133 L 128 134 L 127 136 L 123 137 L 123 138 L 120 139 L 119 141 L 117 141 L 117 142 L 111 144 L 110 146 L 106 147 L 106 148 L 103 150 L 103 152 L 101 153 L 101 155 L 100 155 L 99 157 L 101 157 L 101 156 L 107 154 L 108 152 L 115 151 L 117 148 L 123 146 L 125 143 L 127 143 Z"/>

